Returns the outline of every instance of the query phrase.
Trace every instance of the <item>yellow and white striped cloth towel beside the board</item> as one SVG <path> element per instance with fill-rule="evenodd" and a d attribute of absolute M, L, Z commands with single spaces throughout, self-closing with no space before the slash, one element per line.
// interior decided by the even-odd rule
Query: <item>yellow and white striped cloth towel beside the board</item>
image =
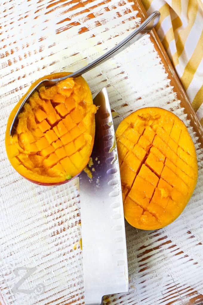
<path fill-rule="evenodd" d="M 157 34 L 203 125 L 203 0 L 142 0 L 159 10 Z"/>

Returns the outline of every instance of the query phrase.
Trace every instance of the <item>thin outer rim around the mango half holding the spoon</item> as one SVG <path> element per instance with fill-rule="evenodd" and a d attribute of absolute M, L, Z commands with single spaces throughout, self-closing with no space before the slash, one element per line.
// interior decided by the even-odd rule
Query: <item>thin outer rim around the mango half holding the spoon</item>
<path fill-rule="evenodd" d="M 79 174 L 81 173 L 81 171 L 83 170 L 83 168 L 81 169 L 81 171 L 76 174 L 74 177 L 70 178 L 70 179 L 67 179 L 67 180 L 64 180 L 64 178 L 59 178 L 59 177 L 43 177 L 43 178 L 39 178 L 38 176 L 39 175 L 35 175 L 34 173 L 31 174 L 31 175 L 27 175 L 26 173 L 22 173 L 20 172 L 15 164 L 13 164 L 12 162 L 12 158 L 11 156 L 9 155 L 9 145 L 10 145 L 10 135 L 9 135 L 9 130 L 10 130 L 10 126 L 11 126 L 11 123 L 12 123 L 12 120 L 19 108 L 19 106 L 21 105 L 21 102 L 23 101 L 23 99 L 25 98 L 25 96 L 27 95 L 27 93 L 29 93 L 32 88 L 38 84 L 41 80 L 43 79 L 54 79 L 54 78 L 58 78 L 58 77 L 64 77 L 68 74 L 71 74 L 72 72 L 59 72 L 59 73 L 54 73 L 54 74 L 49 74 L 49 75 L 45 75 L 44 77 L 41 77 L 40 79 L 38 79 L 37 81 L 35 81 L 31 86 L 30 88 L 28 89 L 28 91 L 26 92 L 25 95 L 23 95 L 23 97 L 19 100 L 19 102 L 16 104 L 16 106 L 13 108 L 12 112 L 10 113 L 9 115 L 9 118 L 8 118 L 8 122 L 7 122 L 7 127 L 6 127 L 6 132 L 5 132 L 5 148 L 6 148 L 6 152 L 7 152 L 7 156 L 8 156 L 8 159 L 11 163 L 11 165 L 16 169 L 16 171 L 21 175 L 23 176 L 23 178 L 25 178 L 26 180 L 30 181 L 30 182 L 33 182 L 37 185 L 44 185 L 44 186 L 52 186 L 52 185 L 61 185 L 61 184 L 64 184 L 64 183 L 67 183 L 71 180 L 73 180 L 74 178 L 78 177 Z M 82 78 L 82 77 L 81 77 Z M 88 96 L 88 99 L 92 101 L 92 95 L 91 95 L 91 91 L 89 89 L 89 86 L 88 84 L 86 83 L 86 81 L 84 80 L 84 78 L 82 78 L 82 80 L 84 81 L 84 84 L 86 84 L 86 87 L 88 88 L 88 91 L 87 91 L 87 96 Z M 92 101 L 93 103 L 93 101 Z M 94 144 L 94 135 L 95 135 L 95 119 L 94 119 L 94 116 L 93 116 L 93 119 L 92 119 L 92 122 L 91 122 L 91 125 L 92 125 L 92 142 L 91 142 L 91 152 L 92 152 L 92 149 L 93 149 L 93 144 Z M 87 163 L 89 161 L 89 157 L 91 155 L 91 152 L 89 153 L 89 156 L 87 156 Z"/>

